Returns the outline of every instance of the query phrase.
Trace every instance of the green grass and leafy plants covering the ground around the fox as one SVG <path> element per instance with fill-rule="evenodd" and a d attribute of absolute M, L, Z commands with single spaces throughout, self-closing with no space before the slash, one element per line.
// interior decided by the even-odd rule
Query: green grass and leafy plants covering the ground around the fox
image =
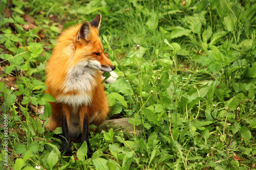
<path fill-rule="evenodd" d="M 109 118 L 131 117 L 142 130 L 91 131 L 92 158 L 79 142 L 62 156 L 61 128 L 45 129 L 45 65 L 61 29 L 99 13 L 120 76 L 105 85 Z M 255 0 L 1 1 L 0 166 L 255 169 L 255 13 Z M 45 115 L 35 113 L 42 105 Z"/>

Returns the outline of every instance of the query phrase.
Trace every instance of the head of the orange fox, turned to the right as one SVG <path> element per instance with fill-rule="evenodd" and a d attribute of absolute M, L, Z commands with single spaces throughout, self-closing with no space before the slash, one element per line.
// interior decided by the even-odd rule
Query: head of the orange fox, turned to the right
<path fill-rule="evenodd" d="M 110 72 L 116 67 L 106 58 L 101 40 L 98 36 L 101 15 L 97 15 L 91 23 L 84 21 L 73 40 L 74 60 L 72 65 L 87 66 Z"/>

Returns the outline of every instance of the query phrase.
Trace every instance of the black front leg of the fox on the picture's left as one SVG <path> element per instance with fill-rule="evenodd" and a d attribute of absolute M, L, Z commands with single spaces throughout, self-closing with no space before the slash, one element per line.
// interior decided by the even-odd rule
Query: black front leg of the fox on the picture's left
<path fill-rule="evenodd" d="M 68 156 L 72 156 L 73 154 L 70 143 L 69 128 L 64 112 L 62 113 L 62 136 L 62 153 L 65 153 Z"/>

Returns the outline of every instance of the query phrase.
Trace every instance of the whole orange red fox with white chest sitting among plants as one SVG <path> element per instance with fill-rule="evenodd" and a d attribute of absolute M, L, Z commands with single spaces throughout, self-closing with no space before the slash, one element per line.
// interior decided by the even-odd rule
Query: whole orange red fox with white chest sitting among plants
<path fill-rule="evenodd" d="M 50 103 L 52 115 L 47 128 L 62 126 L 62 152 L 66 150 L 66 155 L 72 155 L 70 137 L 77 137 L 81 127 L 81 143 L 87 142 L 87 156 L 91 157 L 88 126 L 98 126 L 109 113 L 101 71 L 116 67 L 104 55 L 98 37 L 100 22 L 99 14 L 91 22 L 64 31 L 46 67 L 46 93 L 57 101 Z"/>

